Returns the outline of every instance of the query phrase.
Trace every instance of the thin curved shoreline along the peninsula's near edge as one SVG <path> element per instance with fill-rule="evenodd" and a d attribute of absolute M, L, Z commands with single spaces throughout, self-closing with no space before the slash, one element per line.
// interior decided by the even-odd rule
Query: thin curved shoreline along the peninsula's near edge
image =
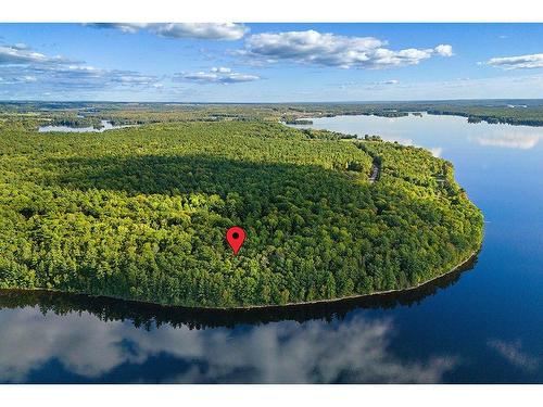
<path fill-rule="evenodd" d="M 141 301 L 141 300 L 130 300 L 130 298 L 124 298 L 119 296 L 113 296 L 113 295 L 94 295 L 94 294 L 88 294 L 84 292 L 71 292 L 71 291 L 62 291 L 62 290 L 54 290 L 54 289 L 43 289 L 43 288 L 34 288 L 34 289 L 21 289 L 21 288 L 7 288 L 7 289 L 1 289 L 0 293 L 2 291 L 26 291 L 26 292 L 49 292 L 49 293 L 59 293 L 59 294 L 73 294 L 73 295 L 84 295 L 89 298 L 111 298 L 115 301 L 124 301 L 124 302 L 131 302 L 131 303 L 138 303 L 141 305 L 151 305 L 151 306 L 160 306 L 164 308 L 169 308 L 169 309 L 182 309 L 182 310 L 192 310 L 192 311 L 198 311 L 198 310 L 204 310 L 204 311 L 223 311 L 223 313 L 241 313 L 241 311 L 250 311 L 250 310 L 265 310 L 267 309 L 278 309 L 278 308 L 292 308 L 292 307 L 303 307 L 303 306 L 311 306 L 311 305 L 326 305 L 326 304 L 337 304 L 341 302 L 348 302 L 352 300 L 362 300 L 362 298 L 370 298 L 370 297 L 378 297 L 378 296 L 383 296 L 383 295 L 390 295 L 390 294 L 402 294 L 402 293 L 407 293 L 411 291 L 415 291 L 417 289 L 420 289 L 425 285 L 428 285 L 443 277 L 446 277 L 455 271 L 458 271 L 464 265 L 468 264 L 471 262 L 480 252 L 482 246 L 482 241 L 479 245 L 479 249 L 475 250 L 471 252 L 471 254 L 463 262 L 451 268 L 449 271 L 433 277 L 430 280 L 426 280 L 424 282 L 420 282 L 416 285 L 412 285 L 406 289 L 397 289 L 397 290 L 383 290 L 383 291 L 376 291 L 372 293 L 367 293 L 367 294 L 353 294 L 353 295 L 348 295 L 348 296 L 342 296 L 342 297 L 337 297 L 337 298 L 329 298 L 329 300 L 315 300 L 315 301 L 304 301 L 304 302 L 298 302 L 298 303 L 287 303 L 287 304 L 267 304 L 267 305 L 247 305 L 247 306 L 232 306 L 232 307 L 206 307 L 206 306 L 188 306 L 188 305 L 172 305 L 172 304 L 162 304 L 162 303 L 154 303 L 150 301 Z"/>

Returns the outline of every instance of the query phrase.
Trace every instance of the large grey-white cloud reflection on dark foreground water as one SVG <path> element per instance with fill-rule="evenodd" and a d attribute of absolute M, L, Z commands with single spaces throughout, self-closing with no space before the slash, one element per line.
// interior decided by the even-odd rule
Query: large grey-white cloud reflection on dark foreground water
<path fill-rule="evenodd" d="M 0 323 L 10 327 L 0 334 L 0 380 L 14 382 L 51 360 L 99 380 L 125 364 L 141 365 L 157 355 L 188 366 L 164 380 L 185 383 L 433 383 L 457 365 L 449 356 L 402 360 L 390 351 L 393 320 L 359 315 L 342 323 L 283 321 L 236 330 L 163 326 L 146 331 L 128 321 L 103 322 L 88 313 L 42 315 L 26 307 L 1 310 Z M 147 381 L 144 369 L 139 374 Z"/>

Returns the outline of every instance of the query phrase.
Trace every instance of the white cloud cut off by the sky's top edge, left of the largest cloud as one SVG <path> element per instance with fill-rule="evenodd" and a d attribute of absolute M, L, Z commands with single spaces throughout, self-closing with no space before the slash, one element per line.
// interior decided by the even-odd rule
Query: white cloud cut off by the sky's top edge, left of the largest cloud
<path fill-rule="evenodd" d="M 123 33 L 135 34 L 147 30 L 151 34 L 168 38 L 197 38 L 237 40 L 242 38 L 249 28 L 235 23 L 97 23 L 99 28 L 116 28 Z"/>

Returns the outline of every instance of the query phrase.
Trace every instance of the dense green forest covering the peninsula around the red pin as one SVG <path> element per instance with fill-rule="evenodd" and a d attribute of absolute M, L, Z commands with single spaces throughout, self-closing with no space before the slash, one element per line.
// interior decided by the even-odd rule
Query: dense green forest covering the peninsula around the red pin
<path fill-rule="evenodd" d="M 37 123 L 0 120 L 0 288 L 280 305 L 414 287 L 481 243 L 451 163 L 422 149 L 253 119 Z"/>

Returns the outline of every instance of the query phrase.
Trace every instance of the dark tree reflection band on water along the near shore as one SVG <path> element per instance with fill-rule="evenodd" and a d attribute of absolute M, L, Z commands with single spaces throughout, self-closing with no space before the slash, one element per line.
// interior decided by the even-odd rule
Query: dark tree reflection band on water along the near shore
<path fill-rule="evenodd" d="M 331 321 L 343 319 L 356 309 L 391 309 L 419 304 L 440 290 L 455 284 L 460 276 L 473 269 L 476 254 L 457 270 L 417 289 L 348 298 L 329 303 L 270 306 L 248 309 L 210 309 L 162 306 L 150 303 L 116 300 L 103 296 L 70 294 L 50 291 L 0 290 L 1 308 L 39 307 L 42 313 L 56 315 L 88 311 L 103 321 L 129 320 L 137 328 L 169 325 L 190 329 L 233 328 L 237 325 L 262 325 L 282 320 L 304 322 L 312 319 Z"/>

